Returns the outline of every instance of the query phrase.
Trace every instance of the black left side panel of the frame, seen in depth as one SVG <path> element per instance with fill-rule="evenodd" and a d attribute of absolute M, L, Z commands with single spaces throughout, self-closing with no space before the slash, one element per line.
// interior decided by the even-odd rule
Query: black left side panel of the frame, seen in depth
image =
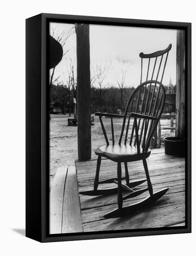
<path fill-rule="evenodd" d="M 26 20 L 26 236 L 40 242 L 41 18 Z"/>

